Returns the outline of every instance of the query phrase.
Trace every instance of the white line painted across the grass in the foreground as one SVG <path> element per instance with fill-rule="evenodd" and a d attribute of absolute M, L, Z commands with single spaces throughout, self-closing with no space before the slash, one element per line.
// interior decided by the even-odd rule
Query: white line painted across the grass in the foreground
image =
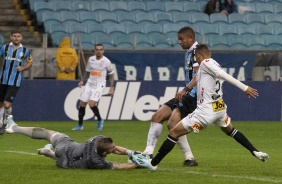
<path fill-rule="evenodd" d="M 36 153 L 30 153 L 25 151 L 0 151 L 6 153 L 17 153 L 17 154 L 25 154 L 25 155 L 38 155 Z M 40 156 L 40 155 L 38 155 Z M 197 172 L 197 171 L 183 171 L 177 169 L 169 169 L 169 168 L 159 168 L 160 171 L 169 171 L 169 172 L 179 172 L 179 173 L 187 173 L 187 174 L 196 174 L 196 175 L 203 175 L 203 176 L 210 176 L 210 177 L 218 177 L 218 178 L 234 178 L 234 179 L 244 179 L 244 180 L 251 180 L 251 181 L 263 181 L 269 183 L 282 183 L 282 180 L 273 180 L 270 178 L 259 178 L 255 176 L 236 176 L 236 175 L 226 175 L 226 174 L 213 174 L 209 172 Z M 158 172 L 158 170 L 156 172 Z"/>

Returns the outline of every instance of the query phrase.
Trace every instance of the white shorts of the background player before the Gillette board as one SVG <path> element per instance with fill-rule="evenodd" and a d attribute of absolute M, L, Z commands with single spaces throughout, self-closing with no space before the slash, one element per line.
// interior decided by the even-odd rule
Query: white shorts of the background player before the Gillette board
<path fill-rule="evenodd" d="M 88 80 L 79 99 L 83 102 L 89 102 L 89 100 L 98 102 L 103 94 L 105 86 L 106 83 Z"/>

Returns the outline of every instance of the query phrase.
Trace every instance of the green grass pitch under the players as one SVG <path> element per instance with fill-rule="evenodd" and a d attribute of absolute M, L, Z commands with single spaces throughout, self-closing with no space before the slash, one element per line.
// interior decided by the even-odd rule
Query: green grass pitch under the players
<path fill-rule="evenodd" d="M 76 122 L 17 122 L 20 126 L 37 126 L 68 134 L 77 142 L 103 134 L 114 139 L 116 145 L 143 151 L 146 146 L 149 122 L 106 121 L 102 131 L 96 122 L 85 122 L 83 131 L 71 131 Z M 10 184 L 262 184 L 282 183 L 282 123 L 233 122 L 259 150 L 269 154 L 263 163 L 253 157 L 233 138 L 217 127 L 209 127 L 199 134 L 189 134 L 188 141 L 198 167 L 183 167 L 184 156 L 175 148 L 158 166 L 156 172 L 133 170 L 74 170 L 60 169 L 55 161 L 39 156 L 36 150 L 47 144 L 20 134 L 0 136 L 0 183 Z M 158 140 L 155 154 L 167 136 L 166 123 Z M 108 161 L 127 162 L 126 156 L 109 155 Z"/>

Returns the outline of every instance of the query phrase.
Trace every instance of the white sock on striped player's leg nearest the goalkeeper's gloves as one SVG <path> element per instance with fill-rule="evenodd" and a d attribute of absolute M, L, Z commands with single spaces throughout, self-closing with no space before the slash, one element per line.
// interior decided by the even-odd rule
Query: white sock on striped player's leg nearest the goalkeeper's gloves
<path fill-rule="evenodd" d="M 151 122 L 150 130 L 148 132 L 147 146 L 144 153 L 153 154 L 156 147 L 158 138 L 160 137 L 163 129 L 163 124 Z"/>

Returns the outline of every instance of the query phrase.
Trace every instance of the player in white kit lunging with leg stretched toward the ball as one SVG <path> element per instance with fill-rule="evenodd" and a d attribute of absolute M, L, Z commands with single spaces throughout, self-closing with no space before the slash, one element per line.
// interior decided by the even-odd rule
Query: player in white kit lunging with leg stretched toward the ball
<path fill-rule="evenodd" d="M 258 96 L 257 90 L 228 75 L 211 58 L 211 52 L 205 44 L 196 47 L 195 57 L 200 67 L 187 88 L 191 89 L 195 84 L 197 85 L 197 108 L 170 130 L 158 154 L 152 160 L 145 160 L 148 162 L 148 169 L 156 170 L 157 165 L 173 149 L 179 137 L 191 132 L 199 133 L 209 125 L 219 126 L 225 134 L 233 137 L 238 143 L 248 149 L 253 156 L 266 162 L 269 158 L 268 154 L 258 151 L 243 133 L 233 127 L 226 112 L 227 105 L 222 98 L 223 81 L 228 81 L 237 86 L 249 98 L 256 98 Z M 181 98 L 180 94 L 176 95 L 176 99 L 181 100 Z"/>

